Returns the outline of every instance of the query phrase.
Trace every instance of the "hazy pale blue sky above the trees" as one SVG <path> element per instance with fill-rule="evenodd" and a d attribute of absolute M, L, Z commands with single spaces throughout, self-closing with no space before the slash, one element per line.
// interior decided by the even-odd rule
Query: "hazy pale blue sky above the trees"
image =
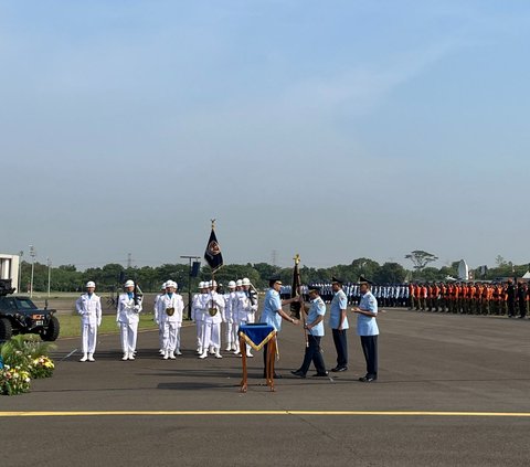
<path fill-rule="evenodd" d="M 0 252 L 522 264 L 527 0 L 0 0 Z"/>

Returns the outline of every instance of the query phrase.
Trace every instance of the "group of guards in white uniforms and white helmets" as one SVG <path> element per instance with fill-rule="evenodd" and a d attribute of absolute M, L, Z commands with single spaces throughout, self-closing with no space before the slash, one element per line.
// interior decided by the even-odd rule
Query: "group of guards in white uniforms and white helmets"
<path fill-rule="evenodd" d="M 95 294 L 94 282 L 86 284 L 86 293 L 76 300 L 76 310 L 82 318 L 82 362 L 93 362 L 97 343 L 97 328 L 102 323 L 100 297 Z M 119 295 L 116 322 L 120 329 L 124 357 L 135 360 L 139 314 L 142 311 L 142 296 L 136 291 L 132 280 L 125 283 L 125 291 Z M 180 330 L 182 327 L 184 301 L 177 293 L 178 284 L 167 280 L 155 298 L 155 321 L 159 327 L 160 353 L 165 360 L 181 355 Z M 248 278 L 229 283 L 225 294 L 218 293 L 218 284 L 202 282 L 199 294 L 193 297 L 191 317 L 197 325 L 197 351 L 199 358 L 209 353 L 222 358 L 221 323 L 225 323 L 226 351 L 241 355 L 237 329 L 241 325 L 255 322 L 258 306 L 257 291 Z M 250 347 L 246 355 L 253 357 Z"/>

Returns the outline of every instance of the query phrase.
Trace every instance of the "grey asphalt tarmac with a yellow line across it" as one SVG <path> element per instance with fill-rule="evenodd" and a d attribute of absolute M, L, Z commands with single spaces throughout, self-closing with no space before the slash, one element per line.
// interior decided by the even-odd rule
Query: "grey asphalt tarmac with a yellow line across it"
<path fill-rule="evenodd" d="M 350 318 L 350 322 L 354 317 Z M 250 360 L 199 360 L 193 327 L 183 355 L 162 360 L 157 332 L 121 361 L 118 336 L 100 336 L 96 362 L 80 339 L 60 339 L 53 378 L 0 397 L 1 465 L 11 466 L 527 466 L 530 465 L 530 320 L 391 309 L 378 318 L 380 374 L 349 331 L 349 370 L 290 375 L 300 327 L 284 322 L 276 392 Z M 335 367 L 331 332 L 325 361 Z M 73 353 L 72 353 L 73 352 Z"/>

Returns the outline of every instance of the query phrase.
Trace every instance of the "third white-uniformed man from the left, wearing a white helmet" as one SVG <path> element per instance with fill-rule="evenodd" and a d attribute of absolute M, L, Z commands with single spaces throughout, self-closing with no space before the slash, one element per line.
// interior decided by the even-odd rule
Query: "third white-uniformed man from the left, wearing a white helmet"
<path fill-rule="evenodd" d="M 180 328 L 182 327 L 182 311 L 184 301 L 182 296 L 177 294 L 177 283 L 166 282 L 166 294 L 160 297 L 157 304 L 158 319 L 163 332 L 163 359 L 174 359 L 174 354 L 181 355 L 180 351 Z"/>

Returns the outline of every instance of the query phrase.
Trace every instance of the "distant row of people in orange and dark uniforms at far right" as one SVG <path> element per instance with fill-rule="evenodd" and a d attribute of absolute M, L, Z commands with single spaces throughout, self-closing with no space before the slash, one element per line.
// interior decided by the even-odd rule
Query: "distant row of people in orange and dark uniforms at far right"
<path fill-rule="evenodd" d="M 410 284 L 409 309 L 466 315 L 519 315 L 529 308 L 528 284 L 512 279 L 506 283 Z"/>

